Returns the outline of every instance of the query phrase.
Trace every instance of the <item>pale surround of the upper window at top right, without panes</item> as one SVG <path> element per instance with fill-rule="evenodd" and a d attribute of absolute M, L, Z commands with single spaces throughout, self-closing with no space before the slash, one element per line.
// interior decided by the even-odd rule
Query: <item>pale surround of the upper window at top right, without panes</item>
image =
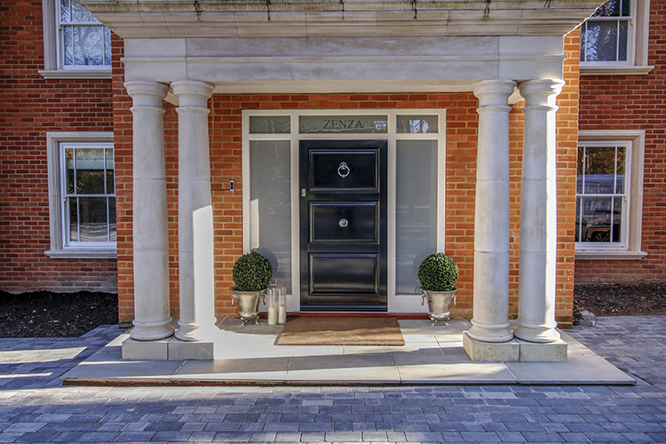
<path fill-rule="evenodd" d="M 631 0 L 627 61 L 581 61 L 581 75 L 648 74 L 654 69 L 654 66 L 647 64 L 649 28 L 650 0 Z"/>

